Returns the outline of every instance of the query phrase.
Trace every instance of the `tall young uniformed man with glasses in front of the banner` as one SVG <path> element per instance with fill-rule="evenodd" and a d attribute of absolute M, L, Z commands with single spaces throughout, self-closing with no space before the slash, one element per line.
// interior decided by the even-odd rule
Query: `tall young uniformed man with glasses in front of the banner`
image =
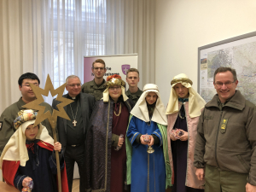
<path fill-rule="evenodd" d="M 103 79 L 104 74 L 106 73 L 105 61 L 102 59 L 97 59 L 92 63 L 91 72 L 94 74 L 94 79 L 82 85 L 82 92 L 88 93 L 96 98 L 96 101 L 102 99 L 103 91 L 105 87 L 103 84 L 106 83 L 106 80 Z"/>

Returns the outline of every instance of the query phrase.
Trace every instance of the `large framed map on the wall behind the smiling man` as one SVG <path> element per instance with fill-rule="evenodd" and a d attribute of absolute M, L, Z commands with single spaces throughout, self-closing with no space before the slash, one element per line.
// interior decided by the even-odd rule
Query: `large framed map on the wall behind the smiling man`
<path fill-rule="evenodd" d="M 218 67 L 235 68 L 236 89 L 256 104 L 256 32 L 198 48 L 198 92 L 206 102 L 216 94 L 213 75 Z"/>

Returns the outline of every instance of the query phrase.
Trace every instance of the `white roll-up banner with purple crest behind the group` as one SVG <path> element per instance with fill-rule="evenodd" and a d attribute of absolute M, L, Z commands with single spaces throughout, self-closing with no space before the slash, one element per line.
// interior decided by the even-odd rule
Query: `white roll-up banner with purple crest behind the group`
<path fill-rule="evenodd" d="M 118 74 L 125 81 L 127 70 L 137 68 L 137 54 L 84 56 L 84 83 L 94 79 L 91 68 L 96 59 L 105 61 L 107 71 L 104 79 L 107 79 L 109 75 Z"/>

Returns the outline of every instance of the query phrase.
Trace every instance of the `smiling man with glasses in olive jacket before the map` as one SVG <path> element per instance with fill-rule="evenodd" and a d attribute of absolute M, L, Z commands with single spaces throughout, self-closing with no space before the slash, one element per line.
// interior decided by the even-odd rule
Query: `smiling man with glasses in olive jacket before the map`
<path fill-rule="evenodd" d="M 256 108 L 236 90 L 235 69 L 219 67 L 213 84 L 197 126 L 195 174 L 206 192 L 256 191 Z"/>

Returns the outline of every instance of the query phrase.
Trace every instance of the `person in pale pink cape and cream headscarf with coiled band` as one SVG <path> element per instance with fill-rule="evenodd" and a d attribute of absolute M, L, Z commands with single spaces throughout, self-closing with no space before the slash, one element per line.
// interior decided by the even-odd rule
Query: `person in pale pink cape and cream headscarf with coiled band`
<path fill-rule="evenodd" d="M 197 124 L 206 102 L 192 88 L 184 73 L 172 79 L 166 114 L 168 118 L 168 153 L 172 168 L 172 192 L 203 192 L 193 166 Z"/>

